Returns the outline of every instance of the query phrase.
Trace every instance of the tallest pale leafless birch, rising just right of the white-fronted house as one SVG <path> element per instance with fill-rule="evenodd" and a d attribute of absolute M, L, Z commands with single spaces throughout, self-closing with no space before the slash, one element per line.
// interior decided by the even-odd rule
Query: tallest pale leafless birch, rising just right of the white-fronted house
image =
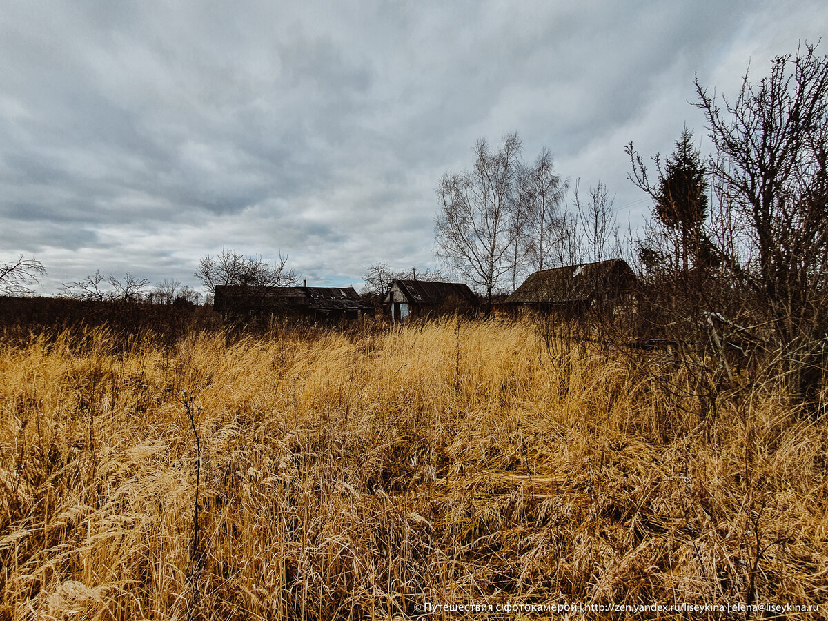
<path fill-rule="evenodd" d="M 511 210 L 521 149 L 517 132 L 503 137 L 498 152 L 481 139 L 474 147 L 474 168 L 445 173 L 437 189 L 436 253 L 485 291 L 489 308 L 493 291 L 512 269 Z"/>

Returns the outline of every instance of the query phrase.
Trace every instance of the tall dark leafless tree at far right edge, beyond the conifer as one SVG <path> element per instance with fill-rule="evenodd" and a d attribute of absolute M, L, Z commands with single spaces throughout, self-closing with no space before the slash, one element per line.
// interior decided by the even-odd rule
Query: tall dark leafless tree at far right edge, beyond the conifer
<path fill-rule="evenodd" d="M 696 92 L 723 220 L 742 231 L 721 240 L 734 286 L 756 302 L 792 393 L 813 401 L 828 357 L 828 56 L 808 44 L 778 56 L 721 105 L 698 80 Z"/>

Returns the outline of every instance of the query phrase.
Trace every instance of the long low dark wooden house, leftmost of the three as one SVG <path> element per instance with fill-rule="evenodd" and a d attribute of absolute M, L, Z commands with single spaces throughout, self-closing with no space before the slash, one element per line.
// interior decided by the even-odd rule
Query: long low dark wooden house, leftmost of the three
<path fill-rule="evenodd" d="M 224 319 L 255 320 L 277 315 L 331 322 L 354 320 L 373 307 L 351 286 L 218 285 L 213 307 Z"/>

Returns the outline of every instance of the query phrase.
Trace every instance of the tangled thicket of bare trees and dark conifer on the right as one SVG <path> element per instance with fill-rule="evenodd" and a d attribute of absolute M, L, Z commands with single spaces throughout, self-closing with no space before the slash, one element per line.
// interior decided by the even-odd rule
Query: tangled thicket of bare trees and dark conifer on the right
<path fill-rule="evenodd" d="M 649 185 L 628 147 L 631 179 L 655 207 L 638 247 L 642 322 L 674 340 L 670 363 L 691 390 L 665 383 L 698 397 L 703 414 L 723 388 L 767 377 L 813 410 L 828 363 L 828 57 L 806 45 L 756 84 L 744 75 L 735 99 L 697 80 L 696 92 L 713 145 L 705 166 L 685 132 L 672 167 L 654 158 Z"/>

